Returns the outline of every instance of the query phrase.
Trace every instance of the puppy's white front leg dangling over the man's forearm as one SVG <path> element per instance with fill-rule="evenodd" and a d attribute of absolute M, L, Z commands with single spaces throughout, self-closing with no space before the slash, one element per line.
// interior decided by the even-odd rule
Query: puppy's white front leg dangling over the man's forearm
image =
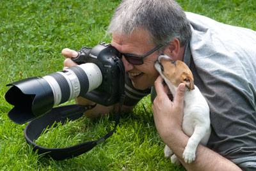
<path fill-rule="evenodd" d="M 183 158 L 186 163 L 192 163 L 196 159 L 196 148 L 205 136 L 207 128 L 202 125 L 196 125 L 193 135 L 189 138 L 188 144 L 183 152 Z"/>

